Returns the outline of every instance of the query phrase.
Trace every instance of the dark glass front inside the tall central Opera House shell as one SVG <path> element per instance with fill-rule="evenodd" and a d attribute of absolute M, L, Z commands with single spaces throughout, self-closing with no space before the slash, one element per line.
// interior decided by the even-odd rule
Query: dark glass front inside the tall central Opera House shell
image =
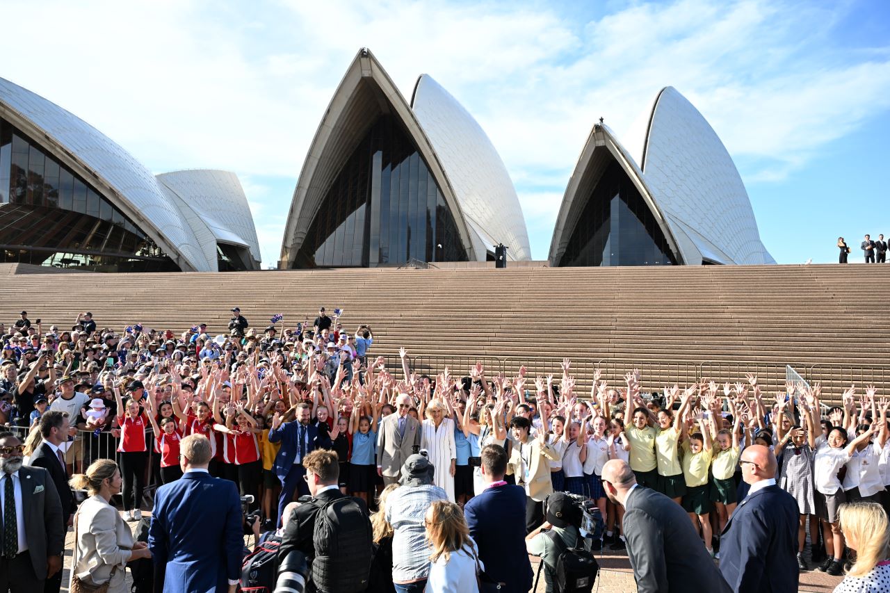
<path fill-rule="evenodd" d="M 322 200 L 295 267 L 466 261 L 457 224 L 417 146 L 380 116 Z"/>

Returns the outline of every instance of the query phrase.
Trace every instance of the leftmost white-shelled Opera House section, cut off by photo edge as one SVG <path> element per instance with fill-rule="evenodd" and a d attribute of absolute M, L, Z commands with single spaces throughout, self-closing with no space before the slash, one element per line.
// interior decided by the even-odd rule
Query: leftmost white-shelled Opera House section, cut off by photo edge
<path fill-rule="evenodd" d="M 256 270 L 260 248 L 236 175 L 152 175 L 93 126 L 0 78 L 0 263 Z"/>

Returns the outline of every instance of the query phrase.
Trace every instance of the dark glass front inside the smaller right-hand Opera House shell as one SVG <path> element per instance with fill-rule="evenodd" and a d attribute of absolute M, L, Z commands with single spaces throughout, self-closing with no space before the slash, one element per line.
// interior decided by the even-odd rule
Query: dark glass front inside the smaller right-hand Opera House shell
<path fill-rule="evenodd" d="M 612 161 L 578 217 L 560 266 L 674 265 L 651 210 Z"/>

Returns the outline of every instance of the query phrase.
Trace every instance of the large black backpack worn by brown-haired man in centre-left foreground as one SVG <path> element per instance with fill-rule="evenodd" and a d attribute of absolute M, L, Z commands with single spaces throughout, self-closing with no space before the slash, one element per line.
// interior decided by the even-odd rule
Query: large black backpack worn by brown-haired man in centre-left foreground
<path fill-rule="evenodd" d="M 319 501 L 315 504 L 318 505 Z M 318 505 L 315 519 L 315 557 L 312 582 L 320 591 L 353 593 L 368 589 L 373 556 L 371 520 L 352 497 Z"/>

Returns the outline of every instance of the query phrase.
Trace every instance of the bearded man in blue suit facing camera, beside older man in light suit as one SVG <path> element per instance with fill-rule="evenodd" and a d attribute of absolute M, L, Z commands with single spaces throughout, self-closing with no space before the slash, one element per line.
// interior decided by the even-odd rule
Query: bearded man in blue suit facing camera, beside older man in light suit
<path fill-rule="evenodd" d="M 287 503 L 294 500 L 294 493 L 299 496 L 309 494 L 309 484 L 303 479 L 306 468 L 303 459 L 316 449 L 330 449 L 331 442 L 327 435 L 319 435 L 317 426 L 309 424 L 312 410 L 308 403 L 301 403 L 296 408 L 295 422 L 281 423 L 281 415 L 276 413 L 272 418 L 269 431 L 270 443 L 281 443 L 278 455 L 275 456 L 275 475 L 281 481 L 279 496 L 278 526 L 281 526 L 281 513 Z"/>

